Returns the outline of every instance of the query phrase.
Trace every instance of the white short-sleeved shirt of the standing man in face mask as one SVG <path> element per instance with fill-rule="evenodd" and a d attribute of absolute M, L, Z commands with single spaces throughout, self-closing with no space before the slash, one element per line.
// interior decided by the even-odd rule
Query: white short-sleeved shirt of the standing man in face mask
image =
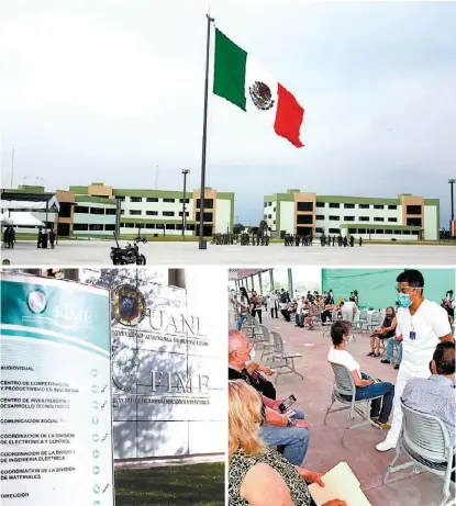
<path fill-rule="evenodd" d="M 429 368 L 440 338 L 452 333 L 448 314 L 435 302 L 424 299 L 412 316 L 409 308 L 399 307 L 396 335 L 402 336 L 402 362 L 411 368 Z M 410 333 L 415 338 L 410 338 Z"/>

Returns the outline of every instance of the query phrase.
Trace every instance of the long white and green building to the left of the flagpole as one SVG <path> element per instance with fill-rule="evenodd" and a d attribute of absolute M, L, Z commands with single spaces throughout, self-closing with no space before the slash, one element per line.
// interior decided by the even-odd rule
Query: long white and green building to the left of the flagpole
<path fill-rule="evenodd" d="M 44 187 L 30 185 L 4 191 L 45 193 Z M 59 237 L 112 237 L 115 230 L 121 235 L 135 235 L 140 228 L 141 234 L 169 236 L 181 235 L 182 226 L 186 235 L 199 235 L 200 190 L 186 192 L 183 198 L 181 191 L 115 189 L 102 182 L 93 182 L 88 187 L 56 190 L 55 194 L 60 211 L 58 215 L 47 213 L 47 223 L 58 230 Z M 46 222 L 44 212 L 33 212 L 33 215 Z M 207 188 L 203 221 L 203 234 L 207 237 L 232 232 L 234 193 Z M 18 232 L 36 233 L 29 229 Z"/>

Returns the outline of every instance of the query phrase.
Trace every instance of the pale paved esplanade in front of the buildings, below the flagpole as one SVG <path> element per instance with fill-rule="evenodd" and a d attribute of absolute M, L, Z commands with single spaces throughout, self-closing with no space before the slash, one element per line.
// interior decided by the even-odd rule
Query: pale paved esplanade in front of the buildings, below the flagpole
<path fill-rule="evenodd" d="M 60 241 L 42 250 L 32 241 L 19 241 L 14 250 L 2 250 L 2 258 L 15 266 L 100 266 L 110 265 L 113 243 L 101 240 Z M 366 245 L 362 248 L 269 246 L 211 246 L 199 250 L 198 243 L 148 243 L 140 247 L 152 266 L 446 266 L 456 263 L 456 246 Z"/>

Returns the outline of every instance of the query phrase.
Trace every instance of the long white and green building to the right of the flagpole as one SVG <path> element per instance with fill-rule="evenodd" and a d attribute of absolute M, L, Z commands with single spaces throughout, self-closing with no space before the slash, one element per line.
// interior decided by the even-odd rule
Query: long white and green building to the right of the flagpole
<path fill-rule="evenodd" d="M 297 189 L 264 198 L 264 220 L 283 234 L 338 235 L 371 240 L 437 240 L 440 201 L 402 193 L 396 199 L 318 195 Z"/>

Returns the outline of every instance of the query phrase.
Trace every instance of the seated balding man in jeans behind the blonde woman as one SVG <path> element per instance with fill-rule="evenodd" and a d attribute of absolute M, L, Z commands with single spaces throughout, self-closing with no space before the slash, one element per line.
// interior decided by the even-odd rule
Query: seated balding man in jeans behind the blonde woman
<path fill-rule="evenodd" d="M 247 384 L 260 392 L 257 383 L 252 381 L 246 362 L 252 360 L 253 346 L 238 330 L 229 333 L 229 379 L 243 379 Z M 262 392 L 260 392 L 262 393 Z M 260 428 L 262 439 L 270 447 L 281 447 L 283 457 L 294 465 L 301 465 L 310 441 L 310 424 L 304 414 L 294 409 L 296 415 L 288 417 L 279 411 L 283 400 L 273 401 L 263 394 L 266 406 L 266 423 Z"/>

